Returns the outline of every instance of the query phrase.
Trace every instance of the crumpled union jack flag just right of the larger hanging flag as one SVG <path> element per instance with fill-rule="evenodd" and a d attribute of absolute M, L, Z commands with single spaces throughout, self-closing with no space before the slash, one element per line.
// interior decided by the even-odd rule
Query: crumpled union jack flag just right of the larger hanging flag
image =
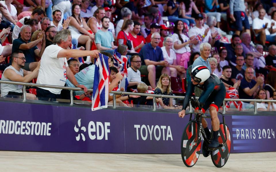
<path fill-rule="evenodd" d="M 114 50 L 113 54 L 113 66 L 118 69 L 120 74 L 123 75 L 123 79 L 118 85 L 118 88 L 121 87 L 124 88 L 124 90 L 127 90 L 127 86 L 129 85 L 129 82 L 127 81 L 127 57 L 122 56 L 119 52 L 117 52 L 117 49 Z"/>

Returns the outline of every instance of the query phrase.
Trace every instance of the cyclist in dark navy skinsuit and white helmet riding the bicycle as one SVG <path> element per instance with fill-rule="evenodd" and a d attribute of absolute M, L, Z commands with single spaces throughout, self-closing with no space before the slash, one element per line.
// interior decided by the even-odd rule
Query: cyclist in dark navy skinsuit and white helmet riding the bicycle
<path fill-rule="evenodd" d="M 218 109 L 223 103 L 225 98 L 226 90 L 223 82 L 213 74 L 210 74 L 209 69 L 206 66 L 196 66 L 192 69 L 191 72 L 191 81 L 188 81 L 187 92 L 183 101 L 183 108 L 178 113 L 179 117 L 185 116 L 185 109 L 188 106 L 189 99 L 193 93 L 195 87 L 198 87 L 203 90 L 201 93 L 195 112 L 202 110 L 203 113 L 209 108 L 209 112 L 212 119 L 213 127 L 213 140 L 208 145 L 210 149 L 216 148 L 219 146 L 218 143 L 218 130 L 219 130 L 219 119 L 218 119 Z M 207 137 L 210 137 L 210 131 L 207 127 L 207 121 L 202 118 L 202 126 Z M 204 149 L 203 149 L 204 150 Z M 205 150 L 206 151 L 206 150 Z M 204 155 L 204 151 L 203 155 Z M 207 154 L 207 155 L 206 155 Z M 205 152 L 204 157 L 207 157 L 209 152 Z"/>

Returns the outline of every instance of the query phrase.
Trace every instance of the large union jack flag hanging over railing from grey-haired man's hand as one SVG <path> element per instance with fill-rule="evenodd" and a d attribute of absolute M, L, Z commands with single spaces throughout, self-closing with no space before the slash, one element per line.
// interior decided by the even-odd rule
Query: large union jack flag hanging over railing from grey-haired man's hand
<path fill-rule="evenodd" d="M 95 58 L 94 64 L 92 111 L 107 107 L 109 86 L 108 57 L 99 54 L 99 58 Z"/>

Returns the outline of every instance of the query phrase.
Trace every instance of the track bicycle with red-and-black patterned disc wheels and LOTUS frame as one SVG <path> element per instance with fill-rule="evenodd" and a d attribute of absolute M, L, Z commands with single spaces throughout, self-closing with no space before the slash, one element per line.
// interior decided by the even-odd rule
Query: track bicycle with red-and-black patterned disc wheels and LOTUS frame
<path fill-rule="evenodd" d="M 191 104 L 194 104 L 195 102 L 194 99 L 191 99 L 190 101 L 192 102 Z M 202 118 L 211 118 L 211 116 L 204 115 L 202 111 L 199 111 L 198 113 L 188 112 L 185 115 L 188 114 L 190 114 L 190 120 L 187 126 L 185 127 L 181 138 L 181 157 L 183 163 L 187 167 L 192 167 L 196 164 L 196 162 L 198 161 L 198 157 L 200 155 L 200 149 L 203 138 L 204 143 L 202 145 L 202 148 L 207 151 L 210 151 L 213 164 L 218 168 L 223 167 L 229 158 L 231 149 L 230 131 L 227 125 L 225 124 L 224 115 L 221 112 L 218 112 L 218 114 L 221 114 L 223 118 L 223 122 L 219 125 L 219 146 L 214 149 L 209 149 L 208 144 L 212 142 L 211 138 L 213 136 L 213 130 L 211 128 L 210 138 L 207 138 L 201 120 Z M 193 114 L 194 118 L 192 119 Z M 227 134 L 225 135 L 225 133 Z"/>

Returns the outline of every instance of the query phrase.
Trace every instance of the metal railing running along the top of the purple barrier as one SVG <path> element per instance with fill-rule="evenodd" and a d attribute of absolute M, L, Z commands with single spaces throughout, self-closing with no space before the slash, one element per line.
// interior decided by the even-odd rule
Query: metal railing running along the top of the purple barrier
<path fill-rule="evenodd" d="M 46 87 L 46 88 L 57 88 L 57 89 L 66 89 L 70 90 L 70 105 L 74 104 L 73 99 L 73 91 L 83 91 L 81 88 L 77 87 L 62 87 L 62 86 L 55 86 L 55 85 L 43 85 L 43 84 L 34 84 L 34 83 L 23 83 L 23 82 L 14 82 L 14 81 L 1 81 L 0 83 L 5 84 L 14 84 L 14 85 L 23 85 L 23 101 L 26 101 L 26 86 L 30 87 Z M 87 91 L 93 92 L 93 89 L 87 89 Z M 150 97 L 156 97 L 156 98 L 175 98 L 175 99 L 184 99 L 185 96 L 177 96 L 177 95 L 160 95 L 160 94 L 149 94 L 149 93 L 133 93 L 133 92 L 124 92 L 124 91 L 111 91 L 110 93 L 113 93 L 113 108 L 116 108 L 116 95 L 139 95 L 139 96 L 150 96 Z M 198 99 L 198 97 L 196 97 Z M 152 99 L 153 101 L 153 110 L 156 110 L 156 101 L 155 99 Z M 223 114 L 226 112 L 225 107 L 225 101 L 251 101 L 254 102 L 254 114 L 257 114 L 257 102 L 274 102 L 276 103 L 276 100 L 262 100 L 262 99 L 224 99 L 223 100 Z M 189 103 L 190 111 L 192 111 L 191 102 Z"/>

